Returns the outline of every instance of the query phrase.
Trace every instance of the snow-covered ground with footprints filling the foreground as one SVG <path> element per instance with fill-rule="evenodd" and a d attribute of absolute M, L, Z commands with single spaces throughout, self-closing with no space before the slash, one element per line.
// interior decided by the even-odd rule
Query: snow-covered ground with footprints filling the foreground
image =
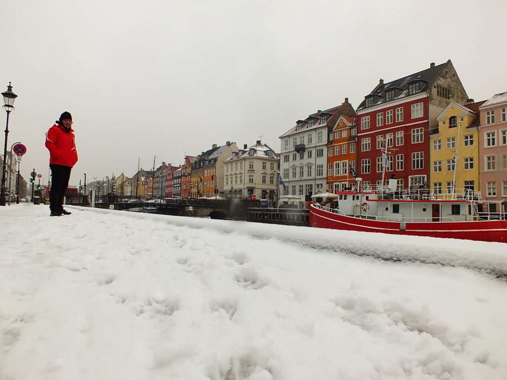
<path fill-rule="evenodd" d="M 507 244 L 0 209 L 0 379 L 506 379 Z"/>

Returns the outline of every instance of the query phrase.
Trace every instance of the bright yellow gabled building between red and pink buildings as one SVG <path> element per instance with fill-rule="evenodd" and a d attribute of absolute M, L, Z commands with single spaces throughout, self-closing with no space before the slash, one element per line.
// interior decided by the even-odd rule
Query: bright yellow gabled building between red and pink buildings
<path fill-rule="evenodd" d="M 451 102 L 437 117 L 429 136 L 429 173 L 433 194 L 479 191 L 479 105 Z M 467 190 L 465 190 L 467 189 Z"/>

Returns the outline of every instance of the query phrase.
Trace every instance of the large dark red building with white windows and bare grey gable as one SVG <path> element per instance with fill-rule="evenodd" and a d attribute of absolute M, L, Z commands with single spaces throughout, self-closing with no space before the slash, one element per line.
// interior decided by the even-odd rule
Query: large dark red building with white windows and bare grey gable
<path fill-rule="evenodd" d="M 382 178 L 396 178 L 399 189 L 427 186 L 429 132 L 451 101 L 466 100 L 450 60 L 389 83 L 380 80 L 357 108 L 356 166 L 363 186 L 380 186 Z"/>

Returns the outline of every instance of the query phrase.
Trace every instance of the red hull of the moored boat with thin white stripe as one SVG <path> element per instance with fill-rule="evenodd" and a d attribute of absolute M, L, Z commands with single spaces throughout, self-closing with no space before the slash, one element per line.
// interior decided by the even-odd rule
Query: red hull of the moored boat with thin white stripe
<path fill-rule="evenodd" d="M 507 243 L 507 220 L 399 222 L 336 214 L 310 205 L 310 225 L 317 228 L 428 236 Z"/>

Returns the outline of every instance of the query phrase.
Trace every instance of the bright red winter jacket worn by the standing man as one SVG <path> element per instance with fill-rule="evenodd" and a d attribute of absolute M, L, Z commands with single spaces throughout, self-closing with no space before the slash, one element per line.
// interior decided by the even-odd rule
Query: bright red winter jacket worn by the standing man
<path fill-rule="evenodd" d="M 78 162 L 74 130 L 68 132 L 58 124 L 46 133 L 46 147 L 49 149 L 49 165 L 56 164 L 73 167 Z"/>

